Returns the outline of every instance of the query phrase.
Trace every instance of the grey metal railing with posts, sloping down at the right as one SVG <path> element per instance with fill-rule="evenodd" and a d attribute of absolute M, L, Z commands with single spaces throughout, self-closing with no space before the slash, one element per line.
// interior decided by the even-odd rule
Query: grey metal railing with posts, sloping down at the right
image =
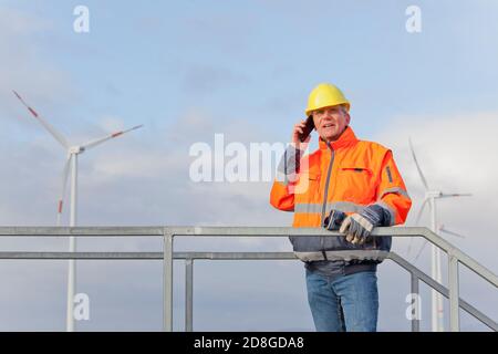
<path fill-rule="evenodd" d="M 449 299 L 450 331 L 459 331 L 459 309 L 479 320 L 494 331 L 498 324 L 483 312 L 459 298 L 458 264 L 461 263 L 476 274 L 498 288 L 498 277 L 461 252 L 448 241 L 426 228 L 376 228 L 373 236 L 423 237 L 448 256 L 448 289 L 422 272 L 415 266 L 394 252 L 387 259 L 411 273 L 413 294 L 419 294 L 419 281 Z M 295 260 L 292 252 L 174 252 L 175 237 L 289 237 L 289 236 L 341 236 L 318 228 L 287 227 L 0 227 L 0 237 L 162 237 L 163 252 L 0 252 L 0 259 L 80 259 L 80 260 L 163 260 L 164 262 L 164 330 L 173 331 L 173 260 L 184 259 L 186 266 L 185 330 L 193 330 L 193 281 L 194 261 L 209 260 Z M 375 251 L 361 251 L 365 256 Z M 338 252 L 338 256 L 340 253 Z M 412 331 L 419 331 L 419 320 L 412 320 Z"/>

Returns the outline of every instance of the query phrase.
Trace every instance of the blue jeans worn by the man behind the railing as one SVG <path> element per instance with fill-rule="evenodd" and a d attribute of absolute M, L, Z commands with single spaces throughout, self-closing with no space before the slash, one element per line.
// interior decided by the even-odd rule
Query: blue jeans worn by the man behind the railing
<path fill-rule="evenodd" d="M 326 277 L 307 270 L 308 302 L 318 332 L 375 332 L 377 275 L 363 271 Z"/>

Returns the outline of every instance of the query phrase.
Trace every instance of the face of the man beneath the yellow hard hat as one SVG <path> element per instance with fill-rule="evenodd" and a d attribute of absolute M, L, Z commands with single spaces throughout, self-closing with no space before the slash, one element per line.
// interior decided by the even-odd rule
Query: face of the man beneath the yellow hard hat
<path fill-rule="evenodd" d="M 350 124 L 350 115 L 339 105 L 320 108 L 312 114 L 317 132 L 325 142 L 336 140 Z"/>

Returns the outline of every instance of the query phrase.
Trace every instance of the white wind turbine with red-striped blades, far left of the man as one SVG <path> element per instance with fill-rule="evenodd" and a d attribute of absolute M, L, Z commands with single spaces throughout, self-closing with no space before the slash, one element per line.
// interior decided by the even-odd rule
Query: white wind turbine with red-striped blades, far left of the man
<path fill-rule="evenodd" d="M 61 216 L 62 216 L 62 209 L 64 204 L 64 197 L 65 197 L 65 189 L 68 185 L 68 177 L 71 169 L 71 214 L 70 214 L 70 227 L 76 226 L 77 219 L 76 219 L 76 207 L 77 207 L 77 157 L 79 155 L 83 154 L 87 149 L 95 147 L 106 140 L 110 140 L 112 138 L 115 138 L 117 136 L 121 136 L 125 133 L 128 133 L 131 131 L 135 131 L 141 128 L 143 125 L 134 126 L 129 129 L 116 132 L 110 135 L 106 135 L 104 137 L 90 140 L 82 145 L 70 145 L 68 140 L 60 134 L 52 125 L 50 125 L 45 119 L 43 119 L 37 111 L 34 111 L 32 107 L 30 107 L 25 101 L 13 91 L 15 96 L 21 101 L 21 103 L 28 108 L 28 111 L 31 113 L 31 115 L 43 125 L 43 127 L 58 140 L 62 147 L 66 150 L 68 157 L 66 162 L 64 164 L 64 169 L 62 173 L 62 186 L 61 186 L 61 194 L 58 201 L 58 226 L 61 226 Z M 76 240 L 74 237 L 70 237 L 70 252 L 75 252 L 76 250 Z M 66 306 L 66 331 L 73 332 L 74 331 L 74 316 L 73 316 L 73 300 L 74 300 L 74 292 L 75 292 L 75 273 L 76 273 L 76 263 L 74 259 L 69 260 L 69 272 L 68 272 L 68 306 Z"/>

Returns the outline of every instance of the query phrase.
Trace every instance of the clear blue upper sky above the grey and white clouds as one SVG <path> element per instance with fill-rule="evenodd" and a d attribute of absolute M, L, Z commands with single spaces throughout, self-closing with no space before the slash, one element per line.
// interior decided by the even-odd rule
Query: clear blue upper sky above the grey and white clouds
<path fill-rule="evenodd" d="M 72 31 L 77 1 L 6 7 L 45 23 L 29 34 L 30 54 L 64 72 L 69 92 L 51 112 L 77 121 L 112 112 L 155 126 L 203 110 L 281 131 L 321 81 L 349 94 L 365 134 L 393 115 L 496 108 L 489 1 L 417 2 L 418 34 L 405 30 L 412 2 L 384 3 L 89 1 L 86 34 Z"/>

